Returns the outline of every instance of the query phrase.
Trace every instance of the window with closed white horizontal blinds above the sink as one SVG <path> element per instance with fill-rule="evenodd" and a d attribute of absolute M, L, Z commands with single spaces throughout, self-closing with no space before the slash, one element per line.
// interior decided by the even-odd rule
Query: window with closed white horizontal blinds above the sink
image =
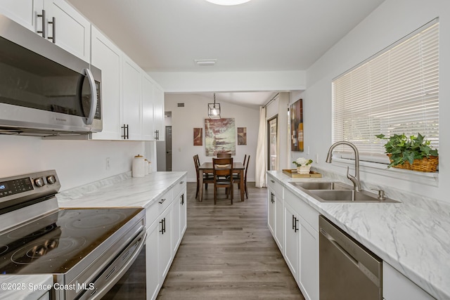
<path fill-rule="evenodd" d="M 438 113 L 438 20 L 333 80 L 333 142 L 354 143 L 364 160 L 387 162 L 380 133 L 420 133 L 439 148 Z"/>

